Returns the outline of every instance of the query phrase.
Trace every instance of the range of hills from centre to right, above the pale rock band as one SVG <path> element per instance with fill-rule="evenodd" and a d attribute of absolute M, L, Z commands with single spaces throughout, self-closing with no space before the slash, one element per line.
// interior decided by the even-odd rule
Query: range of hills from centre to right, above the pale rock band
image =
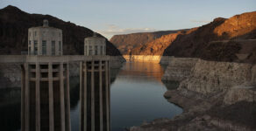
<path fill-rule="evenodd" d="M 150 40 L 145 40 L 146 34 L 141 37 L 140 33 L 134 33 L 117 35 L 110 41 L 134 59 L 133 56 L 144 55 L 256 63 L 255 19 L 256 11 L 252 11 L 230 18 L 217 17 L 209 24 L 168 32 L 159 38 L 149 37 Z"/>

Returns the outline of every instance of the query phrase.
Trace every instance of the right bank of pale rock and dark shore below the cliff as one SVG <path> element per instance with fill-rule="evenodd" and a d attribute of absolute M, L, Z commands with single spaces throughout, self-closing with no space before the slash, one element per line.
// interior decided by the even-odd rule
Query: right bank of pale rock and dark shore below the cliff
<path fill-rule="evenodd" d="M 179 79 L 174 79 L 177 75 Z M 252 64 L 173 58 L 162 78 L 169 89 L 164 97 L 184 112 L 129 130 L 255 130 L 255 76 Z M 180 85 L 174 88 L 168 84 L 171 81 Z"/>

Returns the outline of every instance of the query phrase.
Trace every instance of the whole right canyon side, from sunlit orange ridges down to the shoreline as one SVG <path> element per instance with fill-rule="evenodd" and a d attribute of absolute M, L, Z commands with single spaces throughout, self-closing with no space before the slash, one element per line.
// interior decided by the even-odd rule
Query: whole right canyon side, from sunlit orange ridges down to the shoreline
<path fill-rule="evenodd" d="M 130 130 L 256 130 L 255 36 L 252 11 L 217 17 L 165 43 L 163 56 L 175 58 L 168 58 L 162 77 L 164 84 L 170 83 L 164 96 L 184 112 Z M 138 52 L 154 53 L 161 44 L 141 45 Z"/>

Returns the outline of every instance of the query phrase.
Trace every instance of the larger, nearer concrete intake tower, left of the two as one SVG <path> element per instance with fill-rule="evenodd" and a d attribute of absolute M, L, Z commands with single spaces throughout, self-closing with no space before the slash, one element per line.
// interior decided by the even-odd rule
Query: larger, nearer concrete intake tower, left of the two
<path fill-rule="evenodd" d="M 28 30 L 22 66 L 21 131 L 70 131 L 68 60 L 62 59 L 62 31 L 44 25 Z"/>

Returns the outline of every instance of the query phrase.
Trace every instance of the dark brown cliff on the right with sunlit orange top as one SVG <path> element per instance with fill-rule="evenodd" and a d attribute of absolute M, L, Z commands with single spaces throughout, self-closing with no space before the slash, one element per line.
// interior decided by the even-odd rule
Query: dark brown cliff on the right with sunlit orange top
<path fill-rule="evenodd" d="M 228 19 L 219 17 L 210 24 L 179 35 L 163 55 L 255 63 L 255 38 L 256 11 Z M 237 54 L 245 58 L 238 59 Z"/>

